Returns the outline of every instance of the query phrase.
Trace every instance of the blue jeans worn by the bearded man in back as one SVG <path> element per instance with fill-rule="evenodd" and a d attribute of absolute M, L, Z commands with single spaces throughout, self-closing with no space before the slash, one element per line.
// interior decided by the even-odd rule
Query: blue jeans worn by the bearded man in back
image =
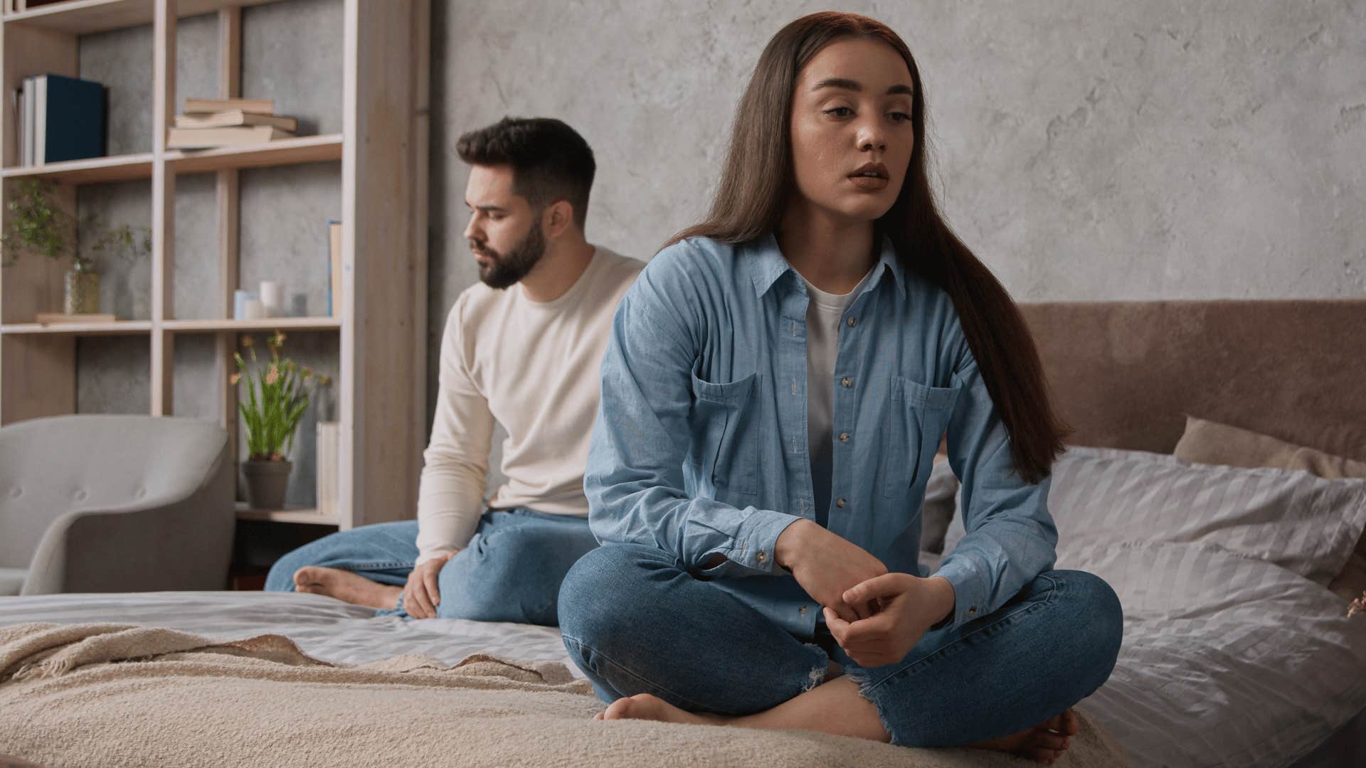
<path fill-rule="evenodd" d="M 305 544 L 270 566 L 268 592 L 292 592 L 294 571 L 322 566 L 403 586 L 418 559 L 418 522 L 384 522 L 339 530 Z M 527 508 L 489 510 L 470 544 L 437 575 L 437 618 L 556 626 L 560 582 L 597 548 L 586 518 Z M 403 597 L 377 616 L 407 616 Z"/>

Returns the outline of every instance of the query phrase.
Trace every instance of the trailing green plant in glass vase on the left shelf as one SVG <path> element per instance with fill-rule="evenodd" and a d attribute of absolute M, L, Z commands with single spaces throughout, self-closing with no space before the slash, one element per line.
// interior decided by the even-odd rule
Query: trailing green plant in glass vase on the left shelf
<path fill-rule="evenodd" d="M 67 210 L 55 202 L 53 182 L 23 179 L 14 186 L 15 193 L 7 208 L 10 223 L 0 232 L 0 266 L 10 266 L 19 254 L 29 251 L 59 261 L 71 258 L 71 268 L 63 282 L 63 307 L 67 314 L 100 312 L 100 272 L 96 260 L 107 253 L 138 257 L 152 251 L 152 230 L 119 224 L 111 227 L 104 219 L 86 216 L 75 227 Z M 81 232 L 87 232 L 83 242 Z M 139 236 L 141 235 L 141 236 Z"/>

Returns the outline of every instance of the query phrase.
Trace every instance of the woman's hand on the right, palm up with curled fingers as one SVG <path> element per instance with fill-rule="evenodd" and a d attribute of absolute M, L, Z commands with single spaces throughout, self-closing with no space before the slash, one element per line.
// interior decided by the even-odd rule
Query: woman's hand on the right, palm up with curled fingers
<path fill-rule="evenodd" d="M 881 667 L 904 659 L 925 631 L 948 615 L 953 608 L 953 585 L 944 577 L 884 574 L 851 588 L 844 599 L 852 603 L 874 601 L 880 611 L 848 622 L 826 608 L 825 623 L 831 635 L 859 666 Z"/>

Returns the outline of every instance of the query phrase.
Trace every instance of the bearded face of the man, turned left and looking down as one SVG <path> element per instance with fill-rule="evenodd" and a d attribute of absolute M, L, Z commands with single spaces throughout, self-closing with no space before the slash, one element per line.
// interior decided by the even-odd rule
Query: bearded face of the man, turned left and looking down
<path fill-rule="evenodd" d="M 540 210 L 512 193 L 511 165 L 471 165 L 464 205 L 470 209 L 464 239 L 479 264 L 479 280 L 490 288 L 515 284 L 545 256 Z"/>

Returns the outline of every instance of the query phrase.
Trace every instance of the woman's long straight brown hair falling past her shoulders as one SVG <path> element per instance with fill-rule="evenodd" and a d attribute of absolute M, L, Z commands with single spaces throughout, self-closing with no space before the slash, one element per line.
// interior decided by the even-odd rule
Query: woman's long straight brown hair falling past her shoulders
<path fill-rule="evenodd" d="M 877 230 L 892 238 L 897 258 L 944 288 L 1011 439 L 1015 470 L 1026 482 L 1045 478 L 1063 452 L 1068 429 L 1053 411 L 1044 366 L 1019 307 L 1000 280 L 949 230 L 926 172 L 925 89 L 910 48 L 891 27 L 856 14 L 825 11 L 787 25 L 759 55 L 740 97 L 721 183 L 706 220 L 679 232 L 728 243 L 758 239 L 777 228 L 795 189 L 791 101 L 798 72 L 836 40 L 869 37 L 891 45 L 911 72 L 915 146 L 902 193 Z"/>

